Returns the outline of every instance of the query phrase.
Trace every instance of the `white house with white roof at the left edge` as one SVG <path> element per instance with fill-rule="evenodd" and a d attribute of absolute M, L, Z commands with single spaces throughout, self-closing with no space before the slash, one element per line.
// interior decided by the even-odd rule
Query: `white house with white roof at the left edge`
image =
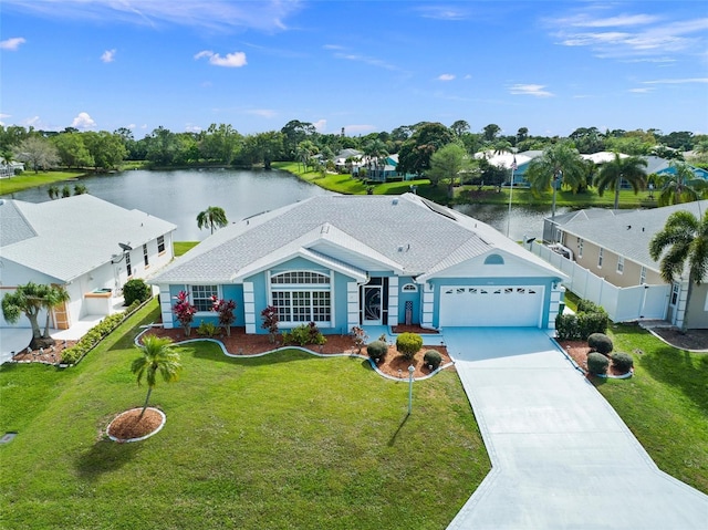
<path fill-rule="evenodd" d="M 92 195 L 33 204 L 0 199 L 0 298 L 30 281 L 63 285 L 71 297 L 53 314 L 56 329 L 108 314 L 132 278 L 173 258 L 177 227 Z M 0 313 L 0 326 L 10 326 Z M 27 318 L 17 326 L 29 328 Z"/>

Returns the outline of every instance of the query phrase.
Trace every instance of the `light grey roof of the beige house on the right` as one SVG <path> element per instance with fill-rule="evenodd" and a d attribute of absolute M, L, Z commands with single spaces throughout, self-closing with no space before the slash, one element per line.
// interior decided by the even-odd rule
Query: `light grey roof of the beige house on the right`
<path fill-rule="evenodd" d="M 649 241 L 675 211 L 686 210 L 697 218 L 708 211 L 708 200 L 665 206 L 646 210 L 620 210 L 604 216 L 575 216 L 561 225 L 563 231 L 658 271 L 649 256 Z M 613 210 L 607 210 L 613 211 Z"/>

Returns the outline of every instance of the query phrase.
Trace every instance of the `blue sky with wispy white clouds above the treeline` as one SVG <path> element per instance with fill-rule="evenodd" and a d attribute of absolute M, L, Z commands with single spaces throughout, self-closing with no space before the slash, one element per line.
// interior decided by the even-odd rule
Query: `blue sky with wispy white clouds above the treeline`
<path fill-rule="evenodd" d="M 705 1 L 2 0 L 0 122 L 708 133 Z"/>

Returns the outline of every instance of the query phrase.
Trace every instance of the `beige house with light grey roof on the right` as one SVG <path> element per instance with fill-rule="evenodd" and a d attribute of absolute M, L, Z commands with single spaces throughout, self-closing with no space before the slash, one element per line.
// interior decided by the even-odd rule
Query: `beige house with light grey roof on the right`
<path fill-rule="evenodd" d="M 673 212 L 687 210 L 700 218 L 707 209 L 708 200 L 701 200 L 646 210 L 574 211 L 555 216 L 553 221 L 546 218 L 544 240 L 562 246 L 556 250 L 568 249 L 577 266 L 617 288 L 666 285 L 659 262 L 649 256 L 649 241 Z M 659 318 L 683 324 L 688 287 L 686 270 L 679 281 L 663 291 L 666 294 L 662 295 Z M 707 283 L 694 287 L 688 319 L 688 328 L 708 328 Z"/>

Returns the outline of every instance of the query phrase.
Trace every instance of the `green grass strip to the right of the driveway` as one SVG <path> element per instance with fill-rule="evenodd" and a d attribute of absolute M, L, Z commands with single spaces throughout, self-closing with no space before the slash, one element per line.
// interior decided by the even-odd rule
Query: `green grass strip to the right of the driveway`
<path fill-rule="evenodd" d="M 596 378 L 600 392 L 660 469 L 708 493 L 708 354 L 668 346 L 637 325 L 608 334 L 615 352 L 632 354 L 635 374 Z"/>

